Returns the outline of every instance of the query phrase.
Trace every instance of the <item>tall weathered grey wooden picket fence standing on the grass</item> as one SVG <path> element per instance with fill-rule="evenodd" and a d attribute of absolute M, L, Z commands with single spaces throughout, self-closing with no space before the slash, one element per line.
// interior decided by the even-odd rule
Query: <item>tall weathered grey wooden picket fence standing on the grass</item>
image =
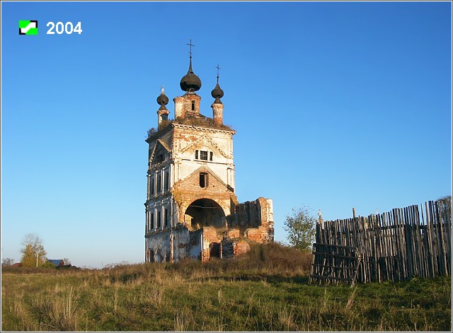
<path fill-rule="evenodd" d="M 320 217 L 309 280 L 353 284 L 449 276 L 451 254 L 451 198 L 426 202 L 425 213 L 414 205 L 345 220 Z"/>

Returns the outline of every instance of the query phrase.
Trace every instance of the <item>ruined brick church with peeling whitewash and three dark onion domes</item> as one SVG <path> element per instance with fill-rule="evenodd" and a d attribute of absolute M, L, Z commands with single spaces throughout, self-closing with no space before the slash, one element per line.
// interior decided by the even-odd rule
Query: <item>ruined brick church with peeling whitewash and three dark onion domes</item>
<path fill-rule="evenodd" d="M 164 88 L 157 98 L 158 127 L 148 132 L 145 262 L 207 261 L 234 257 L 253 242 L 273 241 L 273 202 L 260 197 L 239 204 L 234 193 L 233 135 L 223 124 L 224 91 L 211 92 L 212 118 L 200 113 L 200 78 L 192 69 L 180 80 L 168 119 Z"/>

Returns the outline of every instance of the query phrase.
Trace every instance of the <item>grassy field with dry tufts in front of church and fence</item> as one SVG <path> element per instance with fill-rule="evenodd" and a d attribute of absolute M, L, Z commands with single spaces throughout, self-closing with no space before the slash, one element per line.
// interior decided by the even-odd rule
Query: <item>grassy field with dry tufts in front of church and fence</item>
<path fill-rule="evenodd" d="M 451 332 L 451 278 L 309 286 L 308 267 L 273 244 L 205 264 L 3 269 L 1 329 Z"/>

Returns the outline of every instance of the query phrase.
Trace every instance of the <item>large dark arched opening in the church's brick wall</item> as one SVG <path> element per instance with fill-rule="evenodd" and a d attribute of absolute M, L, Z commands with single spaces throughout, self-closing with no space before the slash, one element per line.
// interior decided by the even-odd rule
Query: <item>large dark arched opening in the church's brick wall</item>
<path fill-rule="evenodd" d="M 185 210 L 184 221 L 193 230 L 198 230 L 205 226 L 222 228 L 226 225 L 225 214 L 222 207 L 211 199 L 198 199 L 193 201 L 188 209 Z"/>

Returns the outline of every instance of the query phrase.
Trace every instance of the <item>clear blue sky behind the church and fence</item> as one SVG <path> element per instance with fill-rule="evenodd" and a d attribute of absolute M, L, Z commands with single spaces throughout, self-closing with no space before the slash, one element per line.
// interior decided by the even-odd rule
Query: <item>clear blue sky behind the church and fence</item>
<path fill-rule="evenodd" d="M 211 117 L 221 68 L 238 199 L 273 199 L 276 240 L 302 205 L 330 220 L 452 194 L 449 1 L 2 1 L 3 258 L 35 233 L 79 267 L 144 260 L 144 140 L 162 85 L 173 118 L 190 39 Z"/>

